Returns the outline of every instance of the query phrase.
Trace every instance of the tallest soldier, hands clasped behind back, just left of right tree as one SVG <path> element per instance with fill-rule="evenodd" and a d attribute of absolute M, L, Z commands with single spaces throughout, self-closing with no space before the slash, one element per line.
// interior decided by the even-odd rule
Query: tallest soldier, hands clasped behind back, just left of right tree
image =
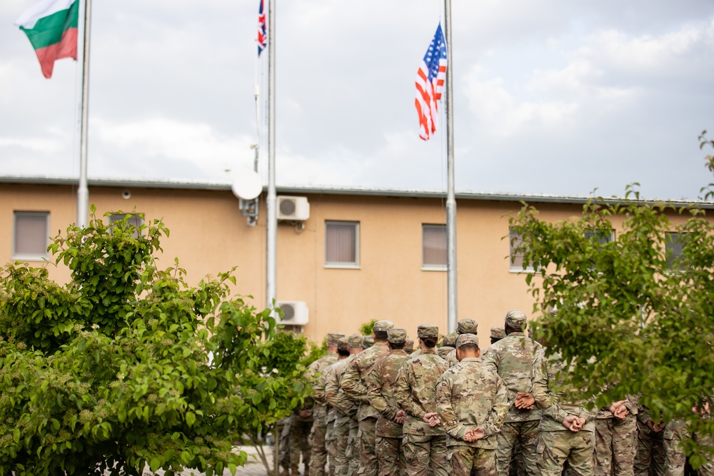
<path fill-rule="evenodd" d="M 481 358 L 486 367 L 501 376 L 508 389 L 506 422 L 501 432 L 496 435 L 498 474 L 508 476 L 514 458 L 513 447 L 518 442 L 523 458 L 523 470 L 526 475 L 535 476 L 538 474 L 536 462 L 540 410 L 518 407 L 516 398 L 518 395 L 530 396 L 533 388 L 531 369 L 541 345 L 523 333 L 526 328 L 526 315 L 520 310 L 510 310 L 506 313 L 503 328 L 506 338 L 491 344 Z"/>

